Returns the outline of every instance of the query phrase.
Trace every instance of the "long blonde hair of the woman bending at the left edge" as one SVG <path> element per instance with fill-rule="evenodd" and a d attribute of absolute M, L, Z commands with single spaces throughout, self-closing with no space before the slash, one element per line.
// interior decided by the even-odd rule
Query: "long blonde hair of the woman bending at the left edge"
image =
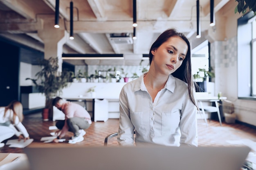
<path fill-rule="evenodd" d="M 4 116 L 7 110 L 11 109 L 13 111 L 13 119 L 11 120 L 13 123 L 15 122 L 16 116 L 18 117 L 19 121 L 22 122 L 23 120 L 23 107 L 22 104 L 16 100 L 12 101 L 8 106 L 5 107 Z"/>

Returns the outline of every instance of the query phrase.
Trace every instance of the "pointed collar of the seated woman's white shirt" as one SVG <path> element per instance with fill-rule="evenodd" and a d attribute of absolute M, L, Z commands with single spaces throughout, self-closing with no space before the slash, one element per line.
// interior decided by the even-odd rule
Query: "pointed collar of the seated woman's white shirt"
<path fill-rule="evenodd" d="M 173 75 L 169 75 L 168 79 L 167 79 L 167 82 L 164 86 L 164 89 L 167 89 L 168 91 L 171 91 L 172 93 L 174 92 L 174 89 L 175 89 L 175 77 L 173 77 Z M 134 92 L 135 91 L 147 91 L 146 90 L 146 86 L 144 84 L 144 74 L 141 75 L 138 79 L 137 79 L 137 83 L 135 84 L 135 87 L 134 87 Z"/>

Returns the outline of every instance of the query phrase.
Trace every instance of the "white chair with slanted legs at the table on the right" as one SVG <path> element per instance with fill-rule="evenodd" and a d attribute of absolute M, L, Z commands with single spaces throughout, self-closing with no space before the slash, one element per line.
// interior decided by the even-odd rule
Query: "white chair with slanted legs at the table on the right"
<path fill-rule="evenodd" d="M 199 108 L 200 108 L 200 110 L 202 110 L 202 114 L 204 116 L 204 121 L 206 122 L 206 124 L 207 124 L 207 119 L 206 119 L 205 112 L 208 112 L 208 113 L 216 112 L 218 114 L 218 118 L 219 118 L 219 121 L 220 121 L 220 126 L 222 126 L 221 117 L 220 117 L 220 108 L 219 108 L 219 103 L 218 103 L 219 101 L 220 101 L 219 99 L 199 100 L 198 101 Z M 214 102 L 215 106 L 204 106 L 202 104 L 202 102 Z"/>

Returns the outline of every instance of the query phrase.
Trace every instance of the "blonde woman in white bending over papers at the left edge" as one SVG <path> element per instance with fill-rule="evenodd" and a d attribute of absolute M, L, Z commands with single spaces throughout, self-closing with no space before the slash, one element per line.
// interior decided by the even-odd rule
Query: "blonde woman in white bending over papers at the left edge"
<path fill-rule="evenodd" d="M 2 141 L 16 135 L 19 140 L 29 139 L 29 134 L 26 128 L 22 125 L 23 107 L 18 101 L 12 101 L 6 107 L 0 107 L 0 147 L 4 146 Z M 18 131 L 16 128 L 18 128 Z"/>

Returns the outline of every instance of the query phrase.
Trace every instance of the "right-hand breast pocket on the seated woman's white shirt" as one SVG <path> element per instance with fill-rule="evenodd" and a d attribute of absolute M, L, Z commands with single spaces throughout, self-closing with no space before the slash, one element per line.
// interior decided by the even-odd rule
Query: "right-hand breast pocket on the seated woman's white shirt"
<path fill-rule="evenodd" d="M 176 132 L 177 127 L 180 124 L 180 111 L 175 110 L 172 112 L 162 113 L 162 130 L 161 134 L 173 134 Z"/>

